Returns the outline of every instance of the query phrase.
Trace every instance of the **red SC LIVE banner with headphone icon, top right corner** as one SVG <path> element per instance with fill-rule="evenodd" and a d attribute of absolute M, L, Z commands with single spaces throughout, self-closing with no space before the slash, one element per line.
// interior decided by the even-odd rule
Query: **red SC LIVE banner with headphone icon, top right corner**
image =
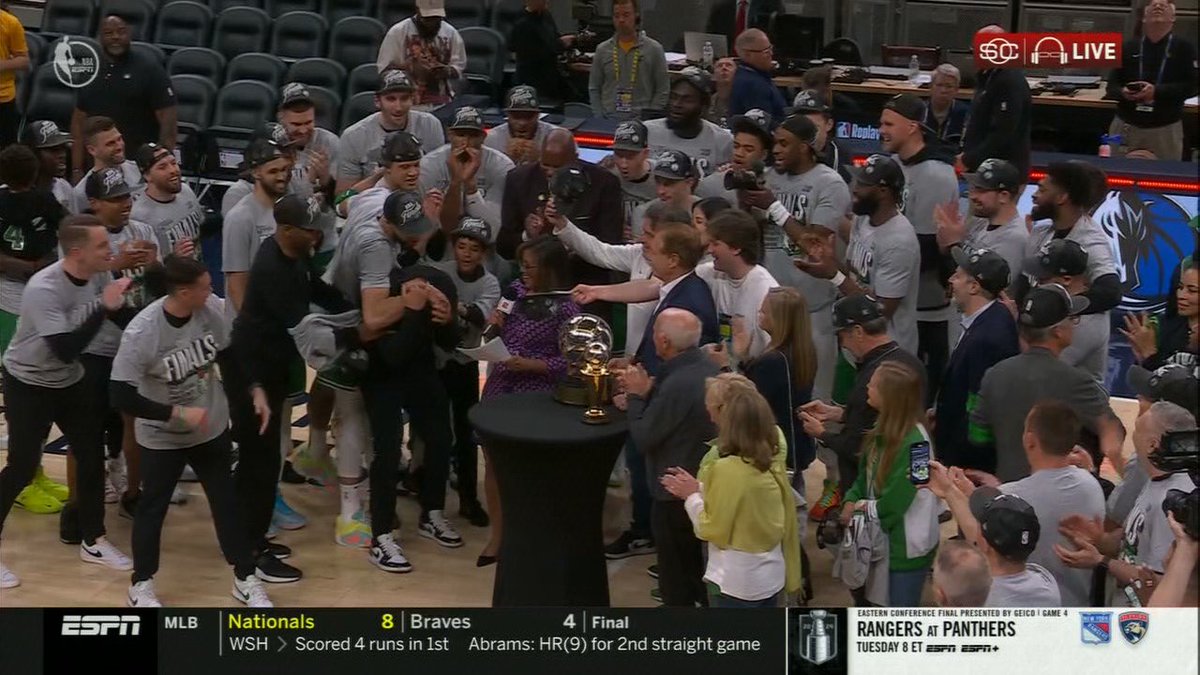
<path fill-rule="evenodd" d="M 1121 66 L 1120 32 L 991 32 L 974 36 L 979 68 Z"/>

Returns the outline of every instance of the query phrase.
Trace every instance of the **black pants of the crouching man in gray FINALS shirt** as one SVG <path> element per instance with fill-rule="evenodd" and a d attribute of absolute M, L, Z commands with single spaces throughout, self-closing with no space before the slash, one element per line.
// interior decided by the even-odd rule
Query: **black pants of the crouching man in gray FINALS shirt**
<path fill-rule="evenodd" d="M 170 494 L 187 464 L 192 465 L 209 497 L 212 525 L 226 561 L 233 566 L 239 579 L 254 573 L 254 557 L 238 518 L 238 501 L 229 472 L 232 461 L 233 446 L 228 431 L 199 446 L 179 450 L 142 448 L 142 498 L 133 518 L 133 584 L 145 581 L 158 572 L 162 522 L 170 507 Z"/>

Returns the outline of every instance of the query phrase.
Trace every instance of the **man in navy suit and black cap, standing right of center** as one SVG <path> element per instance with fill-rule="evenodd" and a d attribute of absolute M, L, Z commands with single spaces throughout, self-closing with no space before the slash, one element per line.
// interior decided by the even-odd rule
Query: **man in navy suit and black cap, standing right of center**
<path fill-rule="evenodd" d="M 967 428 L 983 374 L 1020 351 L 1016 321 L 996 301 L 1008 287 L 1009 269 L 1000 253 L 986 249 L 955 246 L 952 253 L 959 268 L 950 276 L 950 293 L 962 312 L 962 336 L 942 376 L 934 449 L 947 466 L 986 471 L 994 458 L 972 456 Z"/>

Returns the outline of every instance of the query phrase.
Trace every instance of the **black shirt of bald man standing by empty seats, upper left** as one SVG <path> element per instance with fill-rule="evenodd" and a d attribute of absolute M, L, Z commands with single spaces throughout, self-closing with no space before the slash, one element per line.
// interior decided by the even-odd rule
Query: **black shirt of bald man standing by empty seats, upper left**
<path fill-rule="evenodd" d="M 167 71 L 158 61 L 133 52 L 119 59 L 102 54 L 96 79 L 76 95 L 76 107 L 85 114 L 116 121 L 131 154 L 143 143 L 158 141 L 155 110 L 174 104 Z"/>

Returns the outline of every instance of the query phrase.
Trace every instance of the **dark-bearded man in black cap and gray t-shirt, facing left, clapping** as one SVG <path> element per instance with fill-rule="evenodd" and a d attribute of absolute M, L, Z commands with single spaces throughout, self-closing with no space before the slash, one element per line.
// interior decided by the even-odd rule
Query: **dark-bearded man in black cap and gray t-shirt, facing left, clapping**
<path fill-rule="evenodd" d="M 846 265 L 839 268 L 829 238 L 805 237 L 806 258 L 796 267 L 827 279 L 842 295 L 870 294 L 883 307 L 888 333 L 910 354 L 917 353 L 917 287 L 920 281 L 920 244 L 912 223 L 900 213 L 904 171 L 887 155 L 871 155 L 852 169 L 856 217 L 846 246 Z"/>

